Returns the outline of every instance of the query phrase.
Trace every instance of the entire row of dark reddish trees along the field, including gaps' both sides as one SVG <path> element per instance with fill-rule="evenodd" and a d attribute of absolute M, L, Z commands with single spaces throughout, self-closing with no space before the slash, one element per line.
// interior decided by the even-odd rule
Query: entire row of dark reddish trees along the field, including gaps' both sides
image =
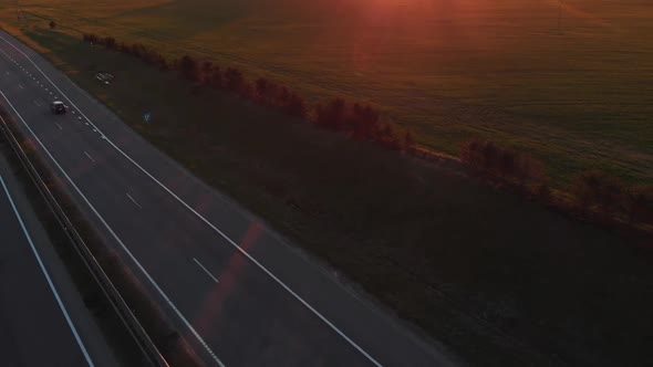
<path fill-rule="evenodd" d="M 371 105 L 332 97 L 311 106 L 307 98 L 288 86 L 266 77 L 252 82 L 237 67 L 220 67 L 190 55 L 169 60 L 142 43 L 118 42 L 112 36 L 86 33 L 83 40 L 137 57 L 160 70 L 177 71 L 193 83 L 234 93 L 288 116 L 305 119 L 318 128 L 348 134 L 355 140 L 373 141 L 392 150 L 416 151 L 413 134 L 398 132 L 394 125 L 383 122 L 379 109 Z M 556 200 L 551 197 L 545 164 L 530 155 L 474 138 L 463 145 L 460 160 L 488 178 L 516 185 L 522 192 L 535 193 L 547 202 Z M 570 193 L 585 216 L 621 217 L 631 224 L 653 220 L 651 186 L 628 187 L 603 172 L 588 171 L 574 179 Z"/>

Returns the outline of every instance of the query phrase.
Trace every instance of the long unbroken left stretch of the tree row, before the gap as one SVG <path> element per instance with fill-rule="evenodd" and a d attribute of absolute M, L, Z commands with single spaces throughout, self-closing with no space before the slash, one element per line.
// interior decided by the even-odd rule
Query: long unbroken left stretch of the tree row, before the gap
<path fill-rule="evenodd" d="M 85 33 L 83 40 L 141 59 L 160 70 L 177 71 L 193 83 L 228 91 L 289 116 L 307 119 L 318 128 L 342 132 L 353 139 L 374 141 L 393 150 L 411 153 L 415 146 L 415 139 L 410 130 L 401 134 L 392 124 L 382 123 L 380 112 L 370 105 L 333 97 L 312 107 L 307 98 L 288 86 L 266 77 L 258 77 L 252 82 L 237 67 L 222 69 L 211 61 L 196 60 L 190 55 L 168 60 L 142 43 L 127 44 L 112 36 L 102 38 Z"/>

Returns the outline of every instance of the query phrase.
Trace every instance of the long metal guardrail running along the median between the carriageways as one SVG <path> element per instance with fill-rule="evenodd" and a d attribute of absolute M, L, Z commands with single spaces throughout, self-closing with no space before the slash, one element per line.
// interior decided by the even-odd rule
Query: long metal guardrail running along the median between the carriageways
<path fill-rule="evenodd" d="M 32 162 L 30 161 L 27 153 L 21 147 L 20 143 L 11 132 L 11 128 L 9 127 L 4 118 L 0 116 L 0 119 L 2 120 L 2 126 L 0 126 L 0 128 L 4 133 L 4 136 L 9 140 L 13 151 L 17 154 L 21 164 L 28 171 L 28 175 L 35 184 L 37 188 L 39 189 L 39 192 L 41 192 L 41 195 L 45 199 L 48 206 L 50 207 L 50 210 L 54 213 L 54 217 L 56 218 L 59 224 L 62 227 L 63 231 L 66 233 L 71 242 L 74 244 L 75 250 L 82 258 L 84 264 L 86 265 L 91 274 L 93 274 L 93 277 L 95 279 L 96 283 L 102 289 L 102 292 L 110 301 L 115 312 L 121 317 L 123 324 L 129 331 L 129 334 L 132 335 L 136 344 L 138 344 L 141 350 L 143 350 L 144 355 L 147 357 L 152 366 L 169 367 L 166 359 L 158 352 L 158 348 L 156 347 L 154 342 L 152 342 L 149 335 L 147 335 L 147 332 L 145 332 L 145 329 L 143 328 L 143 326 L 129 308 L 129 306 L 125 303 L 125 300 L 121 296 L 120 292 L 116 290 L 116 287 L 113 285 L 113 283 L 102 269 L 102 265 L 100 265 L 100 263 L 97 262 L 89 247 L 86 247 L 86 243 L 84 242 L 80 233 L 75 230 L 73 223 L 71 222 L 69 217 L 65 214 L 64 210 L 61 208 L 61 206 L 54 198 L 54 195 L 48 188 L 45 181 L 43 181 L 43 179 L 39 175 L 39 171 L 34 167 L 34 165 L 32 165 Z"/>

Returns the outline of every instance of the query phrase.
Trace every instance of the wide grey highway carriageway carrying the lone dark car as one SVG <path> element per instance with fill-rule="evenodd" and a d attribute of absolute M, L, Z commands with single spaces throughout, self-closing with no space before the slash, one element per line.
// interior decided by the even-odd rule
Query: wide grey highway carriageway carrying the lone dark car
<path fill-rule="evenodd" d="M 0 103 L 207 365 L 454 365 L 6 32 Z"/>

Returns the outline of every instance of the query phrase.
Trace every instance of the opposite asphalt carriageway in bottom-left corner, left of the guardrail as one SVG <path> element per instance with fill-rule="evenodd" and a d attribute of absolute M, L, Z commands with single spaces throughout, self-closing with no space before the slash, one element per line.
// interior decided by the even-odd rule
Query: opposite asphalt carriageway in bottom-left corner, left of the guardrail
<path fill-rule="evenodd" d="M 0 156 L 0 365 L 117 366 Z"/>

